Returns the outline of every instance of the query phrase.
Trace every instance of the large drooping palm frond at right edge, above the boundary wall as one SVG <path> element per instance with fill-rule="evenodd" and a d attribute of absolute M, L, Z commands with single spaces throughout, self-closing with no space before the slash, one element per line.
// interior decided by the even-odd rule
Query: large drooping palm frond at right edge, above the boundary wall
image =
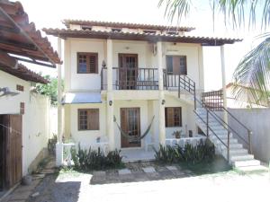
<path fill-rule="evenodd" d="M 269 35 L 268 35 L 269 36 Z M 252 49 L 234 72 L 236 99 L 268 105 L 270 88 L 270 37 Z"/>

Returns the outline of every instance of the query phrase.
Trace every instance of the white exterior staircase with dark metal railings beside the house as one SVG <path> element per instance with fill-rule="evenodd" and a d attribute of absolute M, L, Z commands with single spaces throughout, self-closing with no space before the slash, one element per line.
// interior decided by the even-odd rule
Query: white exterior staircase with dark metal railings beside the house
<path fill-rule="evenodd" d="M 223 107 L 222 94 L 220 92 L 218 96 L 217 94 L 214 94 L 213 97 L 213 100 L 216 101 L 217 97 L 221 95 L 220 102 L 218 103 L 219 110 L 223 111 L 222 113 L 227 112 L 230 119 L 237 121 L 238 124 L 247 131 L 247 136 L 240 136 L 237 131 L 220 118 L 219 113 L 216 113 L 216 111 L 211 109 L 212 106 L 207 106 L 205 103 L 202 103 L 203 99 L 200 101 L 196 98 L 195 83 L 192 79 L 186 75 L 178 75 L 175 80 L 178 81 L 176 86 L 178 88 L 178 98 L 180 98 L 181 92 L 184 91 L 193 95 L 193 111 L 196 125 L 209 137 L 211 142 L 215 145 L 217 153 L 221 154 L 232 166 L 240 171 L 267 170 L 266 167 L 261 166 L 261 162 L 256 160 L 251 152 L 250 136 L 252 135 L 252 132 Z M 166 84 L 166 87 L 168 87 L 168 84 Z M 209 92 L 206 92 L 206 94 L 209 95 Z M 215 107 L 216 102 L 211 104 Z M 240 140 L 241 143 L 239 143 L 238 140 Z"/>

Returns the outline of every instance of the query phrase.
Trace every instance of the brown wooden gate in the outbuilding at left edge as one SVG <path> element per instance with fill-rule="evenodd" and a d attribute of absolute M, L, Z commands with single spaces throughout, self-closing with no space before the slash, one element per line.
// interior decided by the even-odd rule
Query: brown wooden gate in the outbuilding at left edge
<path fill-rule="evenodd" d="M 22 179 L 22 115 L 0 115 L 0 189 Z"/>

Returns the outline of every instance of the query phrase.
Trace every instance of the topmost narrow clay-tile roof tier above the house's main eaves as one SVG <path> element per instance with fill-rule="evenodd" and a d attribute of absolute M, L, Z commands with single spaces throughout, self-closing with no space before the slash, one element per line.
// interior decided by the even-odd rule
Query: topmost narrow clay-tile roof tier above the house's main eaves
<path fill-rule="evenodd" d="M 104 26 L 112 28 L 130 28 L 130 29 L 145 29 L 145 30 L 157 30 L 157 31 L 193 31 L 193 27 L 185 26 L 166 26 L 157 24 L 140 24 L 140 23 L 130 23 L 130 22 L 102 22 L 102 21 L 83 21 L 83 20 L 69 20 L 63 21 L 67 28 L 70 28 L 70 24 L 78 24 L 85 26 Z"/>

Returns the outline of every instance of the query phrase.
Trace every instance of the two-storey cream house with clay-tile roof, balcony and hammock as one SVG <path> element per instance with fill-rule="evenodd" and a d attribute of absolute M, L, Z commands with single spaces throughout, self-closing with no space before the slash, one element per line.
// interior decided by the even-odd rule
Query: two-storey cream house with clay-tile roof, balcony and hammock
<path fill-rule="evenodd" d="M 202 46 L 220 46 L 225 75 L 223 45 L 240 41 L 194 36 L 189 27 L 64 23 L 66 29 L 43 29 L 58 37 L 59 47 L 64 40 L 61 134 L 85 147 L 108 144 L 125 154 L 165 145 L 174 131 L 196 136 L 193 110 L 204 90 Z"/>

